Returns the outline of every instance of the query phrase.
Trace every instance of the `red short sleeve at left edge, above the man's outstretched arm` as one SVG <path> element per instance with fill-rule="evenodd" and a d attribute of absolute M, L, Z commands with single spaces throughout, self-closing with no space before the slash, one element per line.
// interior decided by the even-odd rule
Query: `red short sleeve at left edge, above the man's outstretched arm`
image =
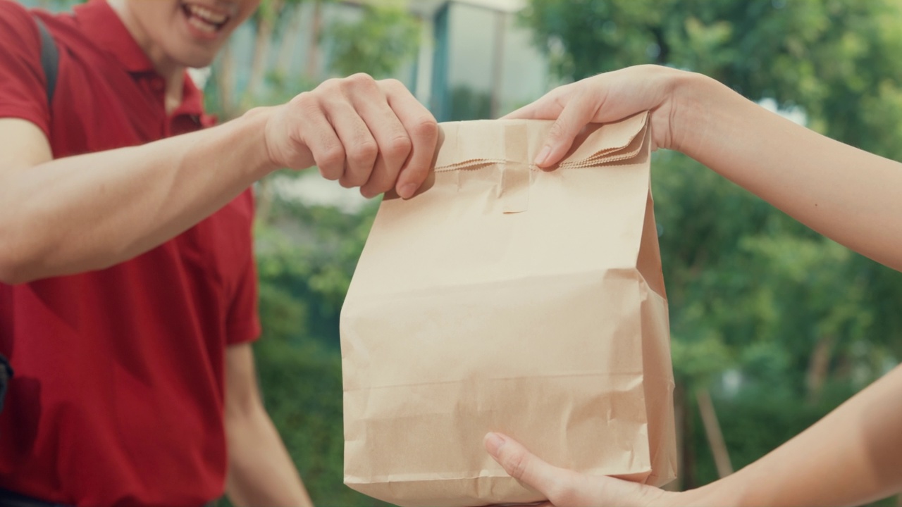
<path fill-rule="evenodd" d="M 32 15 L 0 0 L 0 118 L 22 118 L 50 137 L 50 107 L 41 68 L 41 36 Z"/>

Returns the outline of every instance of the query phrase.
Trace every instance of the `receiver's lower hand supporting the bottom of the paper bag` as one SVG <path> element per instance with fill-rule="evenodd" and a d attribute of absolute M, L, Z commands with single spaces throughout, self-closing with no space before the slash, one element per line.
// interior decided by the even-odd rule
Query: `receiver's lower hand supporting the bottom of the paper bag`
<path fill-rule="evenodd" d="M 612 477 L 591 476 L 548 465 L 526 447 L 500 433 L 483 439 L 489 451 L 511 477 L 542 493 L 548 499 L 543 506 L 617 507 L 679 505 L 680 495 Z"/>

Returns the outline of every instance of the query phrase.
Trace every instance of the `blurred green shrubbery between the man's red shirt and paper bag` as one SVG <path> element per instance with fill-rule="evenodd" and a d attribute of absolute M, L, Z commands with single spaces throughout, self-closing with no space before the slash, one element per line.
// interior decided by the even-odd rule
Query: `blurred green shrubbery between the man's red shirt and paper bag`
<path fill-rule="evenodd" d="M 381 504 L 342 483 L 338 352 L 339 312 L 377 206 L 347 214 L 276 195 L 256 227 L 264 401 L 318 505 Z"/>

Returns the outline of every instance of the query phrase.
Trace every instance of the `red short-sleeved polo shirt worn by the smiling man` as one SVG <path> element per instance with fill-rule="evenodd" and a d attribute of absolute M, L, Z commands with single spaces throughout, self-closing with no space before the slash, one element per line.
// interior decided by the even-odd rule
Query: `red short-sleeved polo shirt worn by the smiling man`
<path fill-rule="evenodd" d="M 31 14 L 0 0 L 0 117 L 38 125 L 54 157 L 209 123 L 189 78 L 166 114 L 162 79 L 102 0 L 40 15 L 60 48 L 52 106 Z M 0 284 L 0 353 L 15 369 L 0 487 L 78 505 L 191 505 L 223 492 L 224 353 L 260 330 L 252 214 L 248 191 L 126 263 Z"/>

